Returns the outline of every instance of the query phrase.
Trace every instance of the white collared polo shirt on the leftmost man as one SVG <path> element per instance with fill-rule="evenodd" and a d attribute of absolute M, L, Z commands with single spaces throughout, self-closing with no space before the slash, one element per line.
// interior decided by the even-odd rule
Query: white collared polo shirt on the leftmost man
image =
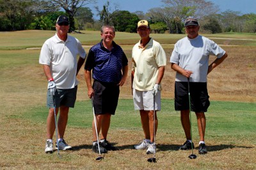
<path fill-rule="evenodd" d="M 39 63 L 50 66 L 57 89 L 72 89 L 78 84 L 77 55 L 85 59 L 86 52 L 79 40 L 72 36 L 62 41 L 55 34 L 42 46 Z"/>

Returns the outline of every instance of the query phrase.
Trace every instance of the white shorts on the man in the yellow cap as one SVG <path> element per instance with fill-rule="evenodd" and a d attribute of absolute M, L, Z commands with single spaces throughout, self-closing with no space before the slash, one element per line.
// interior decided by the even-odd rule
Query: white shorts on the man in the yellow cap
<path fill-rule="evenodd" d="M 152 90 L 139 91 L 132 89 L 134 110 L 154 110 L 154 95 Z M 156 94 L 155 110 L 161 110 L 161 90 Z"/>

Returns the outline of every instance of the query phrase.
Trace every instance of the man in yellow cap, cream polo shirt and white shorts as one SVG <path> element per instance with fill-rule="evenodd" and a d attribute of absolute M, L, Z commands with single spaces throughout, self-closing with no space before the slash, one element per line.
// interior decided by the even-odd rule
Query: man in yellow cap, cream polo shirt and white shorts
<path fill-rule="evenodd" d="M 145 139 L 134 145 L 134 148 L 147 148 L 147 153 L 154 153 L 154 138 L 158 125 L 157 115 L 154 115 L 154 97 L 157 112 L 161 110 L 161 80 L 166 66 L 166 54 L 162 46 L 150 38 L 147 20 L 138 22 L 137 32 L 141 39 L 132 48 L 132 94 L 134 109 L 140 110 Z"/>

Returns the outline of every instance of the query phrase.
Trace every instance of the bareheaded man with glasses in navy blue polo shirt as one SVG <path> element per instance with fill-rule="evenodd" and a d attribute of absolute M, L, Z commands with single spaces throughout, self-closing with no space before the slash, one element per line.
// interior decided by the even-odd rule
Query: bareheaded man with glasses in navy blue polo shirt
<path fill-rule="evenodd" d="M 92 46 L 84 65 L 85 80 L 88 88 L 88 97 L 93 97 L 97 127 L 93 119 L 93 151 L 106 153 L 116 150 L 115 146 L 107 141 L 111 115 L 115 115 L 120 89 L 127 79 L 128 60 L 119 45 L 113 41 L 115 28 L 104 25 L 100 30 L 102 40 Z M 91 71 L 92 75 L 91 76 Z M 92 84 L 93 78 L 93 84 Z M 96 129 L 97 133 L 96 134 Z M 101 131 L 99 148 L 97 135 Z"/>

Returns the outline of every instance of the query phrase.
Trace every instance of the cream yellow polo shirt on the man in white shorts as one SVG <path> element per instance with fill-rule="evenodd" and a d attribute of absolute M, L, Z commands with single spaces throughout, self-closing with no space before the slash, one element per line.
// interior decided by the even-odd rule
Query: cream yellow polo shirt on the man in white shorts
<path fill-rule="evenodd" d="M 166 66 L 166 54 L 160 43 L 152 38 L 145 48 L 140 46 L 140 41 L 136 43 L 132 48 L 132 88 L 140 91 L 152 90 L 156 84 L 158 67 L 161 66 Z"/>

